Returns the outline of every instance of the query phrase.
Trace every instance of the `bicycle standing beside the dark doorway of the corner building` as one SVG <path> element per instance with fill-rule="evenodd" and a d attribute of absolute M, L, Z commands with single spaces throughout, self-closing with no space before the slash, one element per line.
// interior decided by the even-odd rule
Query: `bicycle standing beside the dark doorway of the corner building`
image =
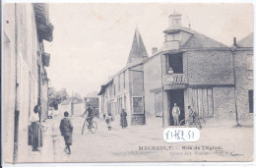
<path fill-rule="evenodd" d="M 192 127 L 193 125 L 196 126 L 196 128 L 198 128 L 199 130 L 203 129 L 206 126 L 206 121 L 202 118 L 202 117 L 198 117 L 196 116 L 193 120 L 193 116 L 189 115 L 188 119 L 185 120 L 181 120 L 179 122 L 180 126 L 188 126 L 188 127 Z"/>

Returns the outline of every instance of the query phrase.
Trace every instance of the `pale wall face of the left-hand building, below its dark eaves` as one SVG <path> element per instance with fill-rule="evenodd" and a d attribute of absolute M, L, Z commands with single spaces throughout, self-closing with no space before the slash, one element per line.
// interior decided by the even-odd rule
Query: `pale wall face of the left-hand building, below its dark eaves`
<path fill-rule="evenodd" d="M 27 152 L 31 152 L 31 146 L 28 145 L 28 125 L 31 124 L 33 107 L 37 104 L 38 64 L 41 65 L 40 52 L 37 51 L 43 44 L 37 39 L 32 4 L 5 4 L 4 11 L 4 34 L 7 42 L 4 49 L 8 55 L 5 55 L 8 58 L 4 61 L 4 67 L 9 67 L 5 70 L 5 77 L 9 76 L 9 79 L 5 83 L 5 95 L 8 97 L 4 98 L 4 106 L 7 105 L 5 110 L 10 114 L 6 116 L 8 124 L 5 125 L 10 128 L 8 135 L 5 135 L 5 140 L 9 141 L 4 145 L 9 151 L 5 161 L 12 161 L 14 151 L 15 108 L 20 111 L 18 161 L 23 161 L 28 157 Z"/>

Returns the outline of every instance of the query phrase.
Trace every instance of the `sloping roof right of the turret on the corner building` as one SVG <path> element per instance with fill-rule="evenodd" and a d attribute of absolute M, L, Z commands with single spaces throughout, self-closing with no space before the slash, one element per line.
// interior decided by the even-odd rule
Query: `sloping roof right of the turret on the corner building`
<path fill-rule="evenodd" d="M 202 33 L 191 30 L 193 34 L 190 38 L 182 45 L 184 48 L 216 48 L 216 47 L 227 47 L 223 43 L 212 39 Z"/>

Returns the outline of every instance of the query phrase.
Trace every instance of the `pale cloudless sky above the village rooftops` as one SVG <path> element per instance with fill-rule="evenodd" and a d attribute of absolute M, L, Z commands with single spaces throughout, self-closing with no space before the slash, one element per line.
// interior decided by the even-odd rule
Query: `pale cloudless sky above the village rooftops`
<path fill-rule="evenodd" d="M 99 91 L 110 76 L 125 67 L 136 26 L 149 56 L 160 48 L 168 16 L 182 15 L 182 26 L 203 33 L 225 45 L 253 31 L 250 4 L 187 3 L 51 3 L 49 20 L 53 41 L 44 42 L 50 53 L 46 69 L 50 85 L 85 96 Z"/>

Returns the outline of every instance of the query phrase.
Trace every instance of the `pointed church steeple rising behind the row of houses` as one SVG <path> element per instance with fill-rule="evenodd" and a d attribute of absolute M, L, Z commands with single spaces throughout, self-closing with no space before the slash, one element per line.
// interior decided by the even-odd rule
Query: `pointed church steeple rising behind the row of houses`
<path fill-rule="evenodd" d="M 149 55 L 139 29 L 136 28 L 127 64 L 142 61 L 143 57 L 149 57 Z"/>

